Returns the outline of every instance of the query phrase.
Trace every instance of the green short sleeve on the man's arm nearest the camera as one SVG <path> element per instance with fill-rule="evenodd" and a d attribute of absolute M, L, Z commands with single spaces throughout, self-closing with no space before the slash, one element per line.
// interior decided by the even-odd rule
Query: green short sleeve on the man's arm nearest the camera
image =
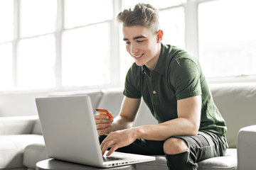
<path fill-rule="evenodd" d="M 190 57 L 180 57 L 171 64 L 171 84 L 176 91 L 176 99 L 201 95 L 201 69 L 198 62 Z"/>

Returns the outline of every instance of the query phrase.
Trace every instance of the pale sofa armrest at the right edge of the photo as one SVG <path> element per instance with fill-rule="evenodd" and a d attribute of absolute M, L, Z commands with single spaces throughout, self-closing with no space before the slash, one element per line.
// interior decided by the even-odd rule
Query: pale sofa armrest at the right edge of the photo
<path fill-rule="evenodd" d="M 238 170 L 255 169 L 256 125 L 241 128 L 238 132 Z"/>

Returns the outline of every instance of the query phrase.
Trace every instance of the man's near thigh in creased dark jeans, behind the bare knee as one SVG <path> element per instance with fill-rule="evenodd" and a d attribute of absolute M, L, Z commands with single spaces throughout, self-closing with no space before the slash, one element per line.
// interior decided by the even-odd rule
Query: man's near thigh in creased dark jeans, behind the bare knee
<path fill-rule="evenodd" d="M 211 157 L 225 155 L 226 145 L 223 137 L 212 132 L 198 132 L 196 136 L 176 136 L 188 145 L 189 154 L 193 162 L 199 162 Z"/>

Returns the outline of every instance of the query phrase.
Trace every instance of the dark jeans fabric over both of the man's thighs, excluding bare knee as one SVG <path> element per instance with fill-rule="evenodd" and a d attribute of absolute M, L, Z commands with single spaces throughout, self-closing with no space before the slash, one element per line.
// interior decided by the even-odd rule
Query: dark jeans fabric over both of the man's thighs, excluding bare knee
<path fill-rule="evenodd" d="M 100 136 L 100 142 L 106 136 Z M 198 132 L 196 136 L 175 136 L 184 140 L 188 145 L 188 152 L 193 162 L 199 162 L 210 157 L 220 157 L 225 155 L 227 148 L 225 138 L 215 135 L 212 132 Z M 118 152 L 145 155 L 165 155 L 165 141 L 135 140 L 131 145 L 117 149 Z"/>

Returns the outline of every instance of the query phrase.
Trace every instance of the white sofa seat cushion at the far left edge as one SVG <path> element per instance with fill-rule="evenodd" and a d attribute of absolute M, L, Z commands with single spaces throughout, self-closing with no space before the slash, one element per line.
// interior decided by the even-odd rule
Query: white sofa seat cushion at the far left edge
<path fill-rule="evenodd" d="M 34 142 L 44 143 L 42 135 L 0 135 L 0 169 L 23 168 L 23 149 Z"/>

